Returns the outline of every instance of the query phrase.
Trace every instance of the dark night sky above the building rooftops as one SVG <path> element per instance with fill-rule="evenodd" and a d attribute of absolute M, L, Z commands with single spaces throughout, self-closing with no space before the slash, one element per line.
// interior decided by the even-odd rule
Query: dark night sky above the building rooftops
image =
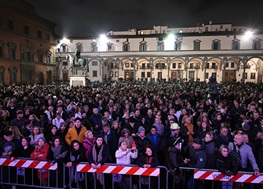
<path fill-rule="evenodd" d="M 263 27 L 263 0 L 27 0 L 63 37 L 197 23 Z"/>

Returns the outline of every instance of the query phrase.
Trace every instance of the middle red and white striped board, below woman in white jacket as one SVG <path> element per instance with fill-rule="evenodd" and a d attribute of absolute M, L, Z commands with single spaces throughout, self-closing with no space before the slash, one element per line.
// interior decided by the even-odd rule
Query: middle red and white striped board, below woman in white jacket
<path fill-rule="evenodd" d="M 99 169 L 93 169 L 89 164 L 78 164 L 78 172 L 89 173 L 108 173 L 108 174 L 125 174 L 125 175 L 141 175 L 141 176 L 160 176 L 160 168 L 142 168 L 129 166 L 111 166 L 102 165 Z"/>

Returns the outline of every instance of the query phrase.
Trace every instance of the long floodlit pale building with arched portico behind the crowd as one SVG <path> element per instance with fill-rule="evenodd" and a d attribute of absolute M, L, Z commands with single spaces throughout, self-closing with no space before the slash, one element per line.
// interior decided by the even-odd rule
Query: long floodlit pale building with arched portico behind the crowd
<path fill-rule="evenodd" d="M 78 50 L 87 60 L 91 81 L 205 81 L 214 75 L 218 82 L 262 83 L 263 33 L 254 31 L 247 36 L 247 30 L 210 22 L 189 28 L 156 26 L 63 39 L 56 48 L 58 79 L 67 81 L 73 74 L 66 57 L 75 56 Z"/>

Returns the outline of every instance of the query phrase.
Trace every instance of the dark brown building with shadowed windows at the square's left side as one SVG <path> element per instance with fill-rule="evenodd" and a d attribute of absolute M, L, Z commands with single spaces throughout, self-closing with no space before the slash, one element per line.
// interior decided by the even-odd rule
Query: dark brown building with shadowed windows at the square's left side
<path fill-rule="evenodd" d="M 24 0 L 0 1 L 0 84 L 50 84 L 55 78 L 55 24 Z"/>

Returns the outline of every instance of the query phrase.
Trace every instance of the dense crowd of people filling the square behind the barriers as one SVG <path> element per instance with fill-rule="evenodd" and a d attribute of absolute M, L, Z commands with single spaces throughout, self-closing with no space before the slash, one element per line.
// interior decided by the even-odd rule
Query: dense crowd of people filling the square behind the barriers
<path fill-rule="evenodd" d="M 80 185 L 84 175 L 74 168 L 79 162 L 94 169 L 104 163 L 163 165 L 178 186 L 180 167 L 187 166 L 258 176 L 263 171 L 263 85 L 235 82 L 217 88 L 215 95 L 198 81 L 2 87 L 0 152 L 57 162 L 58 170 L 64 164 L 72 183 Z M 188 174 L 188 188 L 203 188 Z M 37 175 L 47 185 L 49 174 L 39 170 Z M 101 174 L 95 179 L 103 183 Z"/>

